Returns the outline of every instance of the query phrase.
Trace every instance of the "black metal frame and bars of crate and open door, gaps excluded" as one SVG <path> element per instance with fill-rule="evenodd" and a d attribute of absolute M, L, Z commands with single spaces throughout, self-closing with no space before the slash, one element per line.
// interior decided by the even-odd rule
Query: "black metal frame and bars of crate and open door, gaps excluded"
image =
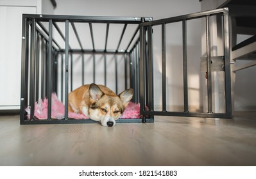
<path fill-rule="evenodd" d="M 223 31 L 223 56 L 211 56 L 211 43 L 210 43 L 210 17 L 214 15 L 221 15 L 220 22 Z M 207 113 L 190 113 L 188 107 L 188 79 L 187 79 L 187 20 L 205 18 L 205 32 L 207 47 L 205 65 L 208 73 L 207 79 Z M 48 22 L 49 31 L 42 25 L 41 22 Z M 65 35 L 60 31 L 56 22 L 65 23 Z M 83 49 L 78 33 L 76 32 L 75 23 L 83 22 L 89 23 L 90 34 L 93 40 L 93 23 L 107 24 L 105 49 Z M 173 22 L 182 22 L 182 49 L 183 49 L 183 104 L 184 111 L 167 111 L 166 110 L 166 24 Z M 109 24 L 124 24 L 121 37 L 116 49 L 107 49 L 108 41 L 108 27 Z M 137 29 L 133 33 L 132 39 L 128 43 L 128 47 L 124 51 L 119 51 L 119 45 L 122 41 L 127 24 L 137 24 Z M 53 38 L 53 26 L 56 28 L 60 36 L 65 40 L 65 49 L 61 49 L 58 43 Z M 71 49 L 69 47 L 69 29 L 73 28 L 80 49 Z M 154 83 L 153 83 L 153 26 L 162 27 L 162 111 L 154 109 Z M 69 73 L 71 73 L 72 80 L 72 66 L 69 66 L 69 55 L 73 53 L 87 53 L 87 54 L 114 54 L 115 56 L 121 54 L 124 56 L 125 61 L 130 64 L 130 88 L 134 90 L 133 102 L 141 104 L 140 119 L 119 119 L 117 123 L 145 123 L 154 122 L 154 116 L 187 116 L 187 117 L 202 117 L 202 118 L 231 118 L 232 117 L 232 99 L 231 99 L 231 76 L 230 76 L 230 47 L 229 47 L 229 31 L 228 31 L 228 8 L 221 8 L 218 10 L 210 10 L 205 12 L 191 13 L 188 15 L 181 15 L 178 17 L 170 17 L 167 19 L 153 20 L 151 17 L 90 17 L 90 16 L 71 16 L 71 15 L 31 15 L 24 14 L 22 17 L 22 70 L 21 70 L 21 124 L 44 124 L 44 123 L 98 123 L 93 120 L 74 120 L 68 118 L 68 91 L 69 91 Z M 219 28 L 219 27 L 218 27 Z M 135 36 L 139 33 L 139 38 L 132 44 Z M 49 105 L 47 106 L 47 119 L 35 120 L 31 118 L 28 120 L 26 117 L 26 107 L 31 107 L 31 116 L 35 112 L 35 101 L 38 98 L 37 88 L 37 56 L 40 49 L 37 48 L 38 34 L 42 35 L 47 42 L 47 89 L 44 97 L 48 98 Z M 132 45 L 132 46 L 131 46 Z M 128 51 L 129 47 L 132 47 Z M 56 82 L 51 82 L 56 79 L 56 68 L 52 65 L 58 56 L 61 55 L 65 69 L 64 86 L 62 93 L 64 93 L 65 114 L 63 120 L 51 119 L 51 93 L 56 91 Z M 65 56 L 65 59 L 64 59 Z M 116 58 L 115 58 L 116 59 Z M 212 61 L 221 60 L 223 62 L 223 71 L 225 79 L 225 113 L 213 113 L 212 110 Z M 116 60 L 115 60 L 116 61 Z M 125 63 L 126 64 L 126 63 Z M 62 66 L 63 66 L 62 65 Z M 49 70 L 50 69 L 50 70 Z M 117 64 L 115 63 L 115 69 Z M 127 81 L 127 65 L 125 65 L 125 88 L 128 87 Z M 94 70 L 95 71 L 95 70 Z M 93 74 L 95 81 L 95 74 Z M 106 75 L 105 75 L 106 77 Z M 106 82 L 106 79 L 105 79 Z M 71 82 L 72 85 L 72 82 Z M 115 91 L 117 91 L 117 72 L 115 71 Z M 72 89 L 72 87 L 71 87 Z M 63 96 L 63 95 L 62 95 Z M 42 96 L 43 98 L 43 96 Z M 147 107 L 146 107 L 147 106 Z"/>

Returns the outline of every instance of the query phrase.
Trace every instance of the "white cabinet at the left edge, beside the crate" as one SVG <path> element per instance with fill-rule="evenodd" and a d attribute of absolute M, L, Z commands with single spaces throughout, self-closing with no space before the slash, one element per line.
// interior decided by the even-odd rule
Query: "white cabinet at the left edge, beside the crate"
<path fill-rule="evenodd" d="M 42 13 L 42 8 L 53 12 L 49 4 L 0 0 L 0 110 L 20 109 L 22 13 Z"/>

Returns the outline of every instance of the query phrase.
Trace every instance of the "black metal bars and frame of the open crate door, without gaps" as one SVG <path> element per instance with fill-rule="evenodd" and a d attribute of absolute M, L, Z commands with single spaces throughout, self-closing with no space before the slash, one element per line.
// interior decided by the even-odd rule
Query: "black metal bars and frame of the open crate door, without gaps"
<path fill-rule="evenodd" d="M 226 112 L 225 113 L 213 113 L 212 111 L 212 69 L 211 69 L 211 56 L 210 56 L 210 17 L 212 15 L 223 16 L 223 32 L 224 32 L 224 40 L 223 47 L 225 48 L 225 105 Z M 208 112 L 207 113 L 189 113 L 188 106 L 188 85 L 187 85 L 187 20 L 190 19 L 206 19 L 205 29 L 207 31 L 207 101 L 208 101 Z M 183 97 L 184 97 L 184 111 L 176 112 L 176 111 L 166 111 L 166 29 L 165 26 L 168 23 L 173 22 L 182 22 L 182 37 L 183 37 Z M 146 81 L 153 81 L 152 76 L 145 76 L 145 68 L 146 65 L 146 56 L 152 56 L 152 54 L 146 54 L 146 29 L 149 29 L 153 26 L 162 26 L 162 111 L 154 111 L 153 108 L 147 111 L 145 109 L 145 102 L 148 101 L 146 98 L 149 96 L 145 95 L 145 90 L 149 90 L 148 88 L 153 88 L 152 86 L 146 85 Z M 171 17 L 167 19 L 154 20 L 151 22 L 144 22 L 140 27 L 140 43 L 141 43 L 141 67 L 140 67 L 140 102 L 141 102 L 141 114 L 144 115 L 160 115 L 160 116 L 194 116 L 194 117 L 209 117 L 209 118 L 230 118 L 231 117 L 231 88 L 230 88 L 230 52 L 229 52 L 229 42 L 228 42 L 228 9 L 222 8 L 218 10 L 210 10 L 207 12 L 199 12 L 192 13 L 189 15 L 181 15 L 178 17 Z M 152 43 L 151 40 L 148 43 Z M 149 44 L 151 45 L 151 44 Z M 151 49 L 151 48 L 149 48 Z M 148 52 L 149 53 L 149 52 Z M 150 59 L 150 58 L 149 58 Z M 149 78 L 149 79 L 147 79 Z M 150 89 L 153 91 L 153 89 Z M 150 92 L 149 92 L 150 93 Z M 150 100 L 153 101 L 153 97 Z"/>

